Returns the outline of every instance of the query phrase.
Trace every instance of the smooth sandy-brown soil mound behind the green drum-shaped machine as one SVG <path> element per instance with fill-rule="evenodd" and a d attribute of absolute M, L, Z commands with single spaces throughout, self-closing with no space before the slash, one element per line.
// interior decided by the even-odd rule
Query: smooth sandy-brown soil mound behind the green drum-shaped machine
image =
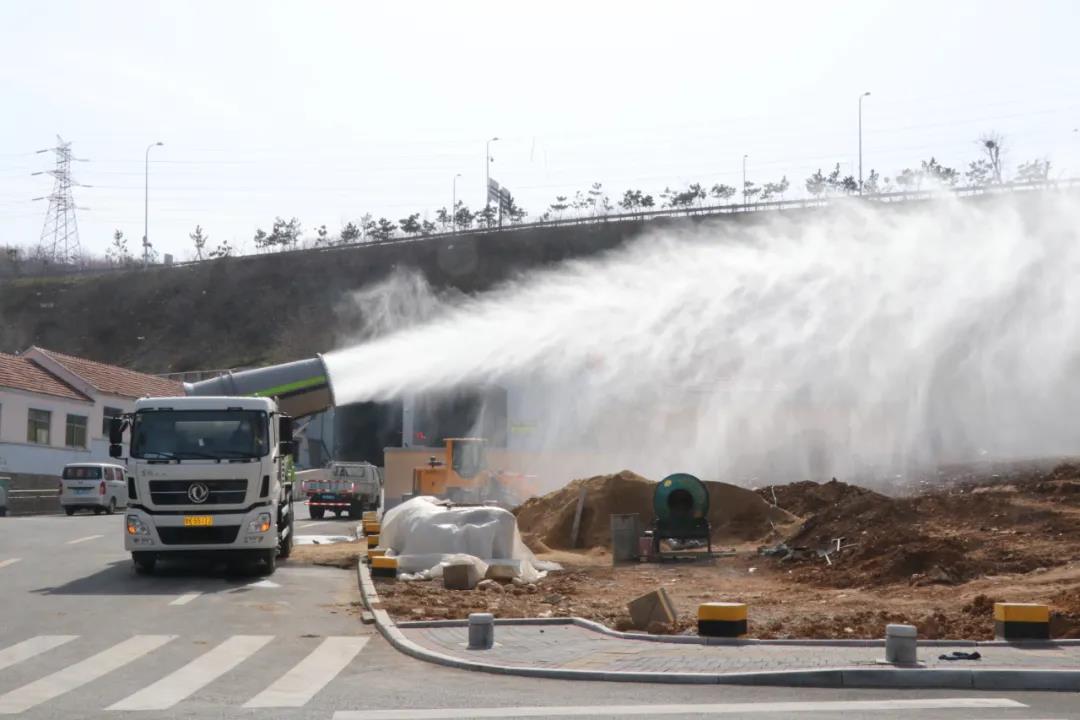
<path fill-rule="evenodd" d="M 578 547 L 611 547 L 611 515 L 636 513 L 642 527 L 652 524 L 652 493 L 656 483 L 622 471 L 573 480 L 559 490 L 532 498 L 514 511 L 525 542 L 538 553 L 550 548 L 570 549 L 570 531 L 581 488 L 585 502 L 581 512 Z M 775 536 L 774 526 L 786 528 L 796 520 L 791 514 L 769 505 L 753 490 L 726 483 L 705 483 L 708 489 L 708 520 L 716 542 L 764 541 Z"/>

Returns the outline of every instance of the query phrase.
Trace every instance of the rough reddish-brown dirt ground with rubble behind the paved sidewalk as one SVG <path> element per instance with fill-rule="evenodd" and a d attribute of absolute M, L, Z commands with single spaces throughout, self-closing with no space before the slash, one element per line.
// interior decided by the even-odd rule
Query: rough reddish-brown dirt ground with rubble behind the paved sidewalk
<path fill-rule="evenodd" d="M 565 499 L 555 501 L 556 494 L 549 498 L 557 519 Z M 693 633 L 699 603 L 728 600 L 748 603 L 751 635 L 759 638 L 878 638 L 887 623 L 904 622 L 916 625 L 920 637 L 989 639 L 996 600 L 1045 602 L 1053 637 L 1080 637 L 1077 465 L 969 474 L 904 498 L 836 481 L 758 494 L 801 518 L 783 532 L 770 527 L 762 534 L 761 544 L 773 548 L 782 534 L 785 547 L 778 555 L 760 555 L 759 543 L 743 540 L 733 557 L 707 562 L 612 567 L 604 543 L 552 551 L 537 542 L 537 520 L 519 515 L 527 542 L 539 557 L 563 563 L 563 572 L 535 585 L 468 592 L 379 581 L 379 594 L 400 620 L 483 611 L 501 617 L 578 615 L 630 629 L 626 602 L 664 587 L 678 622 L 654 631 Z M 826 548 L 833 548 L 827 559 L 819 552 Z"/>

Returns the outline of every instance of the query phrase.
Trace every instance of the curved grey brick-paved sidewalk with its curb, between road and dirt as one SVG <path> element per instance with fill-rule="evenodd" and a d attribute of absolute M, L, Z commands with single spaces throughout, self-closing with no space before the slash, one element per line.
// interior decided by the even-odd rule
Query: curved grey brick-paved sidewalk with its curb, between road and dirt
<path fill-rule="evenodd" d="M 497 620 L 496 646 L 468 649 L 464 621 L 394 624 L 378 609 L 367 568 L 365 604 L 402 652 L 487 673 L 582 680 L 866 688 L 967 688 L 1080 691 L 1080 643 L 919 643 L 920 667 L 885 664 L 883 641 L 727 641 L 697 637 L 639 639 L 577 619 Z M 954 650 L 977 661 L 943 661 Z"/>

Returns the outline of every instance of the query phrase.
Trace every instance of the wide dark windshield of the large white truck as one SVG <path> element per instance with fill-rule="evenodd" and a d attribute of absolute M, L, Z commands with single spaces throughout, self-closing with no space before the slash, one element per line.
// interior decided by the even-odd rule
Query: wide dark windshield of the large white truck
<path fill-rule="evenodd" d="M 145 410 L 132 422 L 131 457 L 261 458 L 270 448 L 267 426 L 259 410 Z"/>

